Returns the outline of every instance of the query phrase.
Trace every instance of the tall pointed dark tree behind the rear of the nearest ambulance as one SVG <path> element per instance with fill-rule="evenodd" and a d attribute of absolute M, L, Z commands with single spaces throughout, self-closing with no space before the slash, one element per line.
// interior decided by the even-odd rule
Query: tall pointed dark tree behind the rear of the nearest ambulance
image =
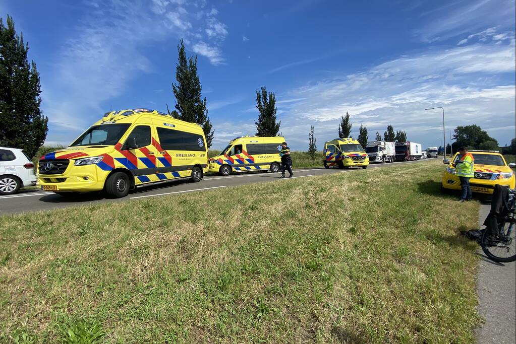
<path fill-rule="evenodd" d="M 201 100 L 201 82 L 197 74 L 197 56 L 186 58 L 185 44 L 178 44 L 178 64 L 175 66 L 175 80 L 172 83 L 176 103 L 171 115 L 181 121 L 198 123 L 202 126 L 206 145 L 212 146 L 214 130 L 206 109 L 206 97 Z"/>

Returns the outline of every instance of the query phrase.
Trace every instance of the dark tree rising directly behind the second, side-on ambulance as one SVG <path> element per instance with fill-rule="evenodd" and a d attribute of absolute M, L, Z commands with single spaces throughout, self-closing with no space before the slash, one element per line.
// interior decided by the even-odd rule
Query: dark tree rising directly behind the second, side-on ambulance
<path fill-rule="evenodd" d="M 266 87 L 256 90 L 256 109 L 258 109 L 258 122 L 256 136 L 277 136 L 280 131 L 281 121 L 276 123 L 276 93 L 267 93 Z"/>

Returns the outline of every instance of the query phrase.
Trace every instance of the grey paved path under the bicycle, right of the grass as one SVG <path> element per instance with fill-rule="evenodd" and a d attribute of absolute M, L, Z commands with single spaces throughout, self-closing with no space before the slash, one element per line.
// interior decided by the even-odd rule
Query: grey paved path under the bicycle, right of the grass
<path fill-rule="evenodd" d="M 490 205 L 481 204 L 480 228 Z M 516 263 L 490 261 L 478 248 L 480 266 L 477 276 L 478 314 L 485 323 L 475 330 L 479 343 L 516 343 Z"/>

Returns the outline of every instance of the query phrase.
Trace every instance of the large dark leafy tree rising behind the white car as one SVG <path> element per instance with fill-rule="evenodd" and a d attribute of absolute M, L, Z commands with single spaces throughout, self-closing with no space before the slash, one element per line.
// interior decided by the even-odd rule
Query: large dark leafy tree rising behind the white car
<path fill-rule="evenodd" d="M 0 18 L 0 146 L 21 148 L 32 158 L 49 131 L 43 116 L 36 63 L 27 60 L 28 43 L 18 36 L 14 21 Z"/>

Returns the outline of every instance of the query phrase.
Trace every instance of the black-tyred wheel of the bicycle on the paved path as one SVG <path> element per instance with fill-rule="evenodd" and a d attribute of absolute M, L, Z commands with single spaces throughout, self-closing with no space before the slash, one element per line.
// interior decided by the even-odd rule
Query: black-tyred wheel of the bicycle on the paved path
<path fill-rule="evenodd" d="M 483 231 L 480 246 L 489 259 L 495 262 L 507 263 L 516 260 L 516 226 L 512 222 L 505 222 L 502 231 L 491 235 L 489 230 Z"/>

